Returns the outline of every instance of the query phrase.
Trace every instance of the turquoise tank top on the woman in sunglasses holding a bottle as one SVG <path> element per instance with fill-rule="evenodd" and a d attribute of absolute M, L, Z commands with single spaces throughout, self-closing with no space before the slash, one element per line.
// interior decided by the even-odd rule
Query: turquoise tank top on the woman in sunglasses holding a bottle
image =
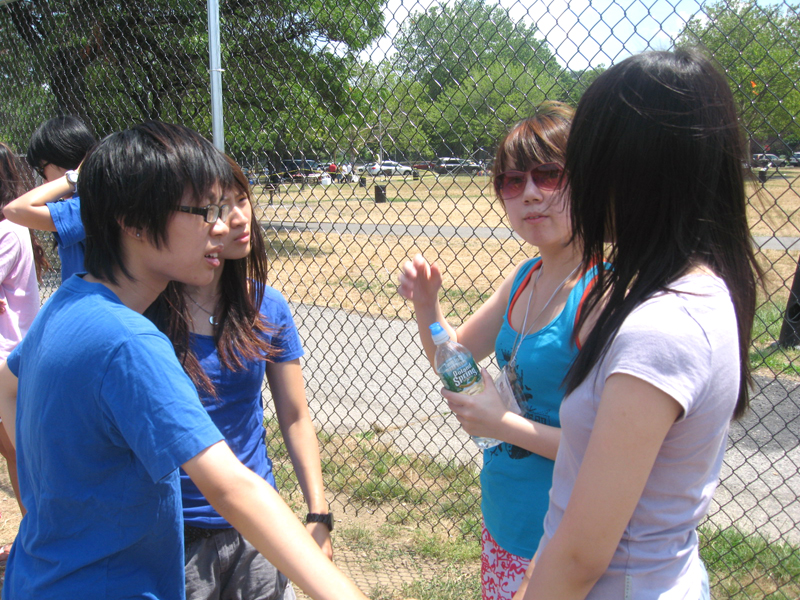
<path fill-rule="evenodd" d="M 514 278 L 510 298 L 530 280 L 540 259 L 522 265 Z M 560 427 L 558 411 L 564 398 L 562 381 L 578 349 L 572 342 L 575 315 L 592 268 L 570 292 L 561 313 L 545 327 L 525 336 L 517 353 L 517 381 L 527 401 L 526 419 Z M 508 320 L 509 307 L 495 341 L 497 364 L 511 358 L 517 332 Z M 533 558 L 544 533 L 544 515 L 553 481 L 553 461 L 518 446 L 502 443 L 484 450 L 481 471 L 481 509 L 489 533 L 504 550 Z"/>

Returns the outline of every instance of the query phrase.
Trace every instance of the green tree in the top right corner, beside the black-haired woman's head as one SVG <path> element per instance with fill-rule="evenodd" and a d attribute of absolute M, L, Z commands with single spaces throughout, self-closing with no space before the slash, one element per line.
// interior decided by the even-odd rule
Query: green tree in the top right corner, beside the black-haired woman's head
<path fill-rule="evenodd" d="M 678 45 L 700 46 L 730 79 L 742 123 L 764 145 L 800 134 L 800 16 L 798 6 L 755 0 L 717 2 L 707 18 L 690 20 Z M 774 150 L 783 150 L 775 148 Z"/>

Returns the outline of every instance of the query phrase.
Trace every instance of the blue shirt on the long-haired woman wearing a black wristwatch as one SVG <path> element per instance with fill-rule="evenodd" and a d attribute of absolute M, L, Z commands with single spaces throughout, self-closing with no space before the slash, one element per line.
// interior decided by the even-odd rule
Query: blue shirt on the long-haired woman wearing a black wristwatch
<path fill-rule="evenodd" d="M 288 362 L 303 356 L 303 346 L 289 304 L 280 292 L 269 286 L 264 289 L 261 314 L 273 328 L 269 341 L 277 354 L 271 360 Z M 244 361 L 245 368 L 241 371 L 226 369 L 220 363 L 214 338 L 210 335 L 191 334 L 191 348 L 216 387 L 217 397 L 200 391 L 200 399 L 211 420 L 219 427 L 238 459 L 275 487 L 272 461 L 267 456 L 267 432 L 264 429 L 264 404 L 261 398 L 266 363 L 263 360 L 249 360 Z M 231 526 L 183 471 L 181 493 L 183 517 L 187 525 L 208 529 Z"/>

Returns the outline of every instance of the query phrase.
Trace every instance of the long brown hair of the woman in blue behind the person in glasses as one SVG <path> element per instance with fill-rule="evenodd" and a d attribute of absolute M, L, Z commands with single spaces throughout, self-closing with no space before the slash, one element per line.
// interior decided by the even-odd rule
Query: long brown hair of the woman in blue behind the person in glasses
<path fill-rule="evenodd" d="M 231 371 L 244 369 L 245 360 L 268 359 L 275 349 L 270 340 L 275 327 L 261 316 L 261 301 L 267 284 L 267 250 L 261 225 L 255 217 L 250 183 L 236 162 L 224 156 L 233 174 L 230 189 L 247 196 L 252 222 L 250 254 L 236 260 L 226 260 L 220 277 L 220 299 L 214 312 L 217 325 L 214 345 L 220 362 Z M 239 196 L 241 197 L 241 196 Z M 211 396 L 216 390 L 191 349 L 189 307 L 186 288 L 170 282 L 158 299 L 145 312 L 175 346 L 175 353 L 195 386 Z"/>

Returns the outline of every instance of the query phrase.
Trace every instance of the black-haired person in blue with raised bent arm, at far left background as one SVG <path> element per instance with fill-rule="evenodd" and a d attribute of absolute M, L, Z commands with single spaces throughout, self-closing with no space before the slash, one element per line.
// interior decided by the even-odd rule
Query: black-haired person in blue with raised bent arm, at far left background
<path fill-rule="evenodd" d="M 31 136 L 28 164 L 43 185 L 13 200 L 3 210 L 12 223 L 52 231 L 61 259 L 61 281 L 83 272 L 86 233 L 75 189 L 77 169 L 96 140 L 77 117 L 45 121 Z"/>

